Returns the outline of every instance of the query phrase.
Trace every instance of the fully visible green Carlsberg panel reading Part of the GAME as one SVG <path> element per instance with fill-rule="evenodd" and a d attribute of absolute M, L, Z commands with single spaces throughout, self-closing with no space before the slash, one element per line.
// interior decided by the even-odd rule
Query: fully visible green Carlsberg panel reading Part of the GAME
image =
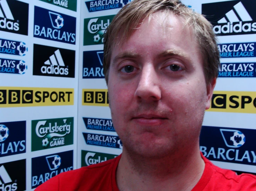
<path fill-rule="evenodd" d="M 32 120 L 31 150 L 38 151 L 73 144 L 74 118 Z"/>

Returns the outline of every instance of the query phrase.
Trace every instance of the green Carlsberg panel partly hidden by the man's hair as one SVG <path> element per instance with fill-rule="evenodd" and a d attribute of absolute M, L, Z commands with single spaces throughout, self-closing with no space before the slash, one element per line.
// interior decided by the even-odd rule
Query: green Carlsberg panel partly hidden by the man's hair
<path fill-rule="evenodd" d="M 104 33 L 115 15 L 84 20 L 83 45 L 103 44 Z"/>

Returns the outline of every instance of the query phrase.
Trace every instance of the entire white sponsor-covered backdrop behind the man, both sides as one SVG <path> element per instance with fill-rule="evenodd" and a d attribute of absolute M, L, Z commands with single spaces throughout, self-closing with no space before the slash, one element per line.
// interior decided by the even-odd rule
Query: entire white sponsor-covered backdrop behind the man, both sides
<path fill-rule="evenodd" d="M 0 1 L 0 177 L 8 174 L 0 188 L 34 190 L 122 152 L 108 107 L 103 41 L 130 1 Z M 222 168 L 256 173 L 256 2 L 182 2 L 212 22 L 221 57 L 200 149 Z"/>

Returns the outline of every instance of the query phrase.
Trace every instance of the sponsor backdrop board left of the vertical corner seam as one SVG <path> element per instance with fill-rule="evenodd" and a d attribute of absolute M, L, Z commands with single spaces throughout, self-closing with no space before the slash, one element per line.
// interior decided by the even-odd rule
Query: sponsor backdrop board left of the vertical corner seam
<path fill-rule="evenodd" d="M 0 190 L 77 168 L 80 4 L 0 0 Z"/>

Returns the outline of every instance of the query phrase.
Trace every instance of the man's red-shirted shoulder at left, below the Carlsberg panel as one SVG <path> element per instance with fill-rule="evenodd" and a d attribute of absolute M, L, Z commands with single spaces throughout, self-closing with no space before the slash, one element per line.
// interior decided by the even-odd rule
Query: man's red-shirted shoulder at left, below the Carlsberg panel
<path fill-rule="evenodd" d="M 82 190 L 83 188 L 90 190 L 89 188 L 95 187 L 94 184 L 98 183 L 99 180 L 109 179 L 106 182 L 111 182 L 114 164 L 119 161 L 119 158 L 120 156 L 88 167 L 62 172 L 37 187 L 36 191 L 71 191 Z"/>

